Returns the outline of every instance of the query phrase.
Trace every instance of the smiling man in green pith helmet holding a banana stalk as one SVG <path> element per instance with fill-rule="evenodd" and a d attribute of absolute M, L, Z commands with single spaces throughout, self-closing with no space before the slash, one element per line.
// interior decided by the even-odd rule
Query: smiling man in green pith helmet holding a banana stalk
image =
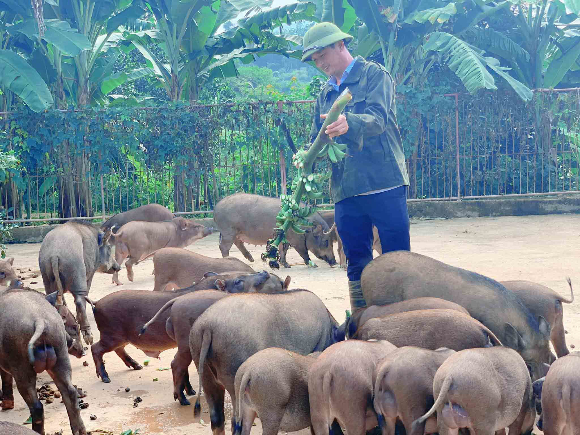
<path fill-rule="evenodd" d="M 314 107 L 312 142 L 340 93 L 348 87 L 353 96 L 326 133 L 347 144 L 346 157 L 332 166 L 331 187 L 354 311 L 366 306 L 360 278 L 373 258 L 372 227 L 379 231 L 383 252 L 409 251 L 411 242 L 409 177 L 397 126 L 394 82 L 382 65 L 361 56 L 353 59 L 347 49 L 352 39 L 335 24 L 315 24 L 304 36 L 302 61 L 314 61 L 329 76 Z"/>

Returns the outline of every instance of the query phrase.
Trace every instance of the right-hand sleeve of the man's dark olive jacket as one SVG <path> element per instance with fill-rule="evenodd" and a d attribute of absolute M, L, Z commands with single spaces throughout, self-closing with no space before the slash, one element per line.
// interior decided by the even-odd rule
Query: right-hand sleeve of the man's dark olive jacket
<path fill-rule="evenodd" d="M 394 84 L 389 73 L 373 68 L 367 79 L 364 113 L 345 113 L 349 131 L 343 137 L 360 143 L 363 137 L 377 136 L 387 128 L 394 96 Z"/>

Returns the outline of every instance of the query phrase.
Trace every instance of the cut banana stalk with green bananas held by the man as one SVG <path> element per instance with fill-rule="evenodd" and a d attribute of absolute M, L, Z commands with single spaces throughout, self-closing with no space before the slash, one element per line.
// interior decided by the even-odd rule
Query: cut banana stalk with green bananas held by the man
<path fill-rule="evenodd" d="M 312 223 L 306 220 L 309 216 L 316 212 L 313 206 L 300 207 L 300 200 L 305 195 L 310 199 L 317 199 L 322 197 L 322 192 L 318 191 L 318 187 L 324 180 L 331 175 L 328 172 L 326 175 L 314 175 L 313 168 L 316 159 L 328 155 L 333 163 L 337 163 L 345 156 L 342 150 L 346 146 L 340 146 L 333 142 L 325 133 L 327 126 L 335 122 L 340 113 L 345 109 L 346 104 L 352 99 L 352 94 L 349 88 L 346 88 L 340 96 L 332 104 L 328 112 L 328 116 L 324 119 L 322 128 L 318 132 L 318 136 L 307 151 L 300 150 L 292 158 L 292 163 L 298 168 L 298 175 L 296 175 L 293 185 L 296 186 L 292 196 L 282 195 L 281 211 L 276 218 L 280 225 L 274 229 L 273 238 L 271 238 L 266 246 L 266 252 L 262 254 L 262 260 L 268 262 L 271 269 L 279 269 L 280 253 L 278 246 L 281 243 L 288 243 L 285 233 L 292 230 L 297 234 L 305 233 L 300 226 L 312 226 Z M 320 189 L 321 190 L 321 189 Z M 311 267 L 316 267 L 315 264 L 309 264 Z"/>

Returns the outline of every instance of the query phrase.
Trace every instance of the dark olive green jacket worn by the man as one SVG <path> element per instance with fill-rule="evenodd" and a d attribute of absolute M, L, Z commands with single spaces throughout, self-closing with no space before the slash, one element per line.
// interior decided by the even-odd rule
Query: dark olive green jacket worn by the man
<path fill-rule="evenodd" d="M 372 190 L 409 185 L 393 79 L 379 63 L 361 56 L 356 60 L 339 86 L 340 93 L 348 86 L 353 99 L 344 111 L 349 131 L 334 138 L 347 144 L 345 158 L 332 165 L 335 202 Z M 324 122 L 320 114 L 328 113 L 338 96 L 339 92 L 328 83 L 322 88 L 314 106 L 312 140 Z"/>

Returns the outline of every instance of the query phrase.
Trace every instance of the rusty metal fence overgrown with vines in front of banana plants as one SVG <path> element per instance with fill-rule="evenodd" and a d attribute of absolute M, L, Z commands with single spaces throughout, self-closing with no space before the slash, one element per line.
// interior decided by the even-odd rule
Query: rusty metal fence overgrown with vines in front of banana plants
<path fill-rule="evenodd" d="M 538 90 L 528 104 L 499 92 L 446 97 L 449 104 L 421 115 L 413 126 L 400 125 L 411 180 L 409 201 L 580 190 L 579 89 Z M 181 214 L 209 213 L 216 201 L 238 191 L 269 196 L 287 192 L 295 168 L 290 165 L 292 151 L 281 140 L 280 121 L 300 147 L 309 136 L 313 102 L 249 106 L 259 128 L 255 122 L 250 128 L 233 115 L 227 118 L 219 111 L 223 106 L 199 106 L 209 107 L 213 119 L 220 122 L 204 137 L 204 148 L 195 157 L 197 169 L 183 175 L 187 189 L 182 193 Z M 398 110 L 406 110 L 404 97 L 398 100 Z M 409 139 L 411 133 L 413 140 Z M 85 202 L 79 207 L 79 217 L 103 218 L 151 202 L 175 211 L 173 161 L 146 167 L 119 155 L 106 171 L 89 164 L 84 171 L 63 173 L 55 164 L 63 155 L 47 153 L 44 164 L 20 174 L 16 187 L 0 184 L 2 205 L 7 211 L 18 209 L 20 222 L 66 220 L 60 217 L 64 208 L 61 192 L 64 183 L 76 183 L 90 191 L 81 197 L 81 189 L 73 189 L 79 192 L 78 203 Z M 332 203 L 328 185 L 318 202 Z"/>

